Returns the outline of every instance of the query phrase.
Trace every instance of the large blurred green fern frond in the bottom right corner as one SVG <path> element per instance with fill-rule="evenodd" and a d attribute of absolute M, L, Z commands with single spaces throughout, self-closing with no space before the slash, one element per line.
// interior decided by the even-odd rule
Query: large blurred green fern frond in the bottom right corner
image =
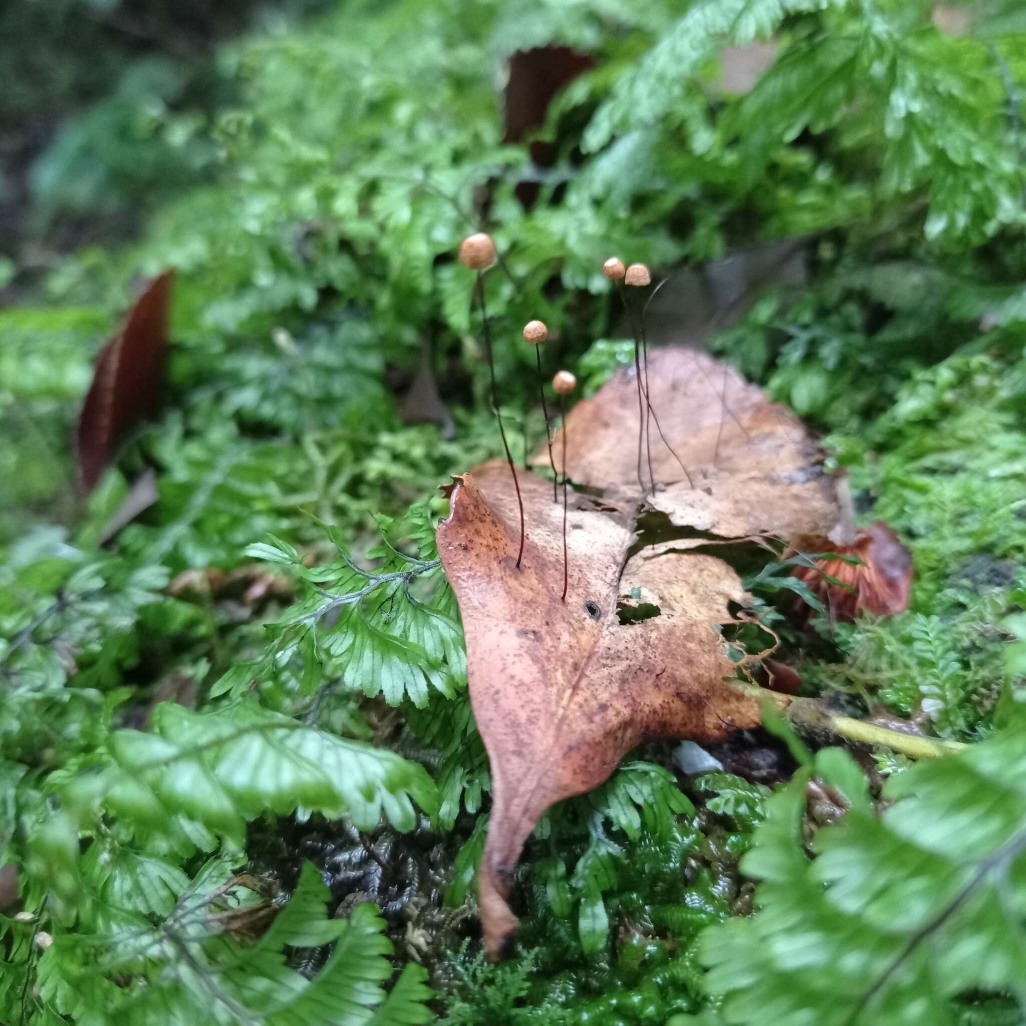
<path fill-rule="evenodd" d="M 824 767 L 828 751 L 817 761 L 828 783 L 860 778 L 851 760 Z M 1021 1005 L 1024 752 L 1019 726 L 908 768 L 884 787 L 882 815 L 864 784 L 862 796 L 842 790 L 849 812 L 817 833 L 812 862 L 805 774 L 774 796 L 742 863 L 761 880 L 759 911 L 703 941 L 723 1021 L 954 1023 L 1010 1009 L 1002 991 Z"/>

